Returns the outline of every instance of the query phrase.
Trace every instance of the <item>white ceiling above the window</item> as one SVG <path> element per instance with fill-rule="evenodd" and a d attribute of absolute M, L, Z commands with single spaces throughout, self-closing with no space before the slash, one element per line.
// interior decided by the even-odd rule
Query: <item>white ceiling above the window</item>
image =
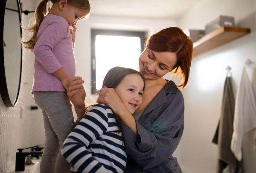
<path fill-rule="evenodd" d="M 91 15 L 177 20 L 200 0 L 90 0 Z"/>

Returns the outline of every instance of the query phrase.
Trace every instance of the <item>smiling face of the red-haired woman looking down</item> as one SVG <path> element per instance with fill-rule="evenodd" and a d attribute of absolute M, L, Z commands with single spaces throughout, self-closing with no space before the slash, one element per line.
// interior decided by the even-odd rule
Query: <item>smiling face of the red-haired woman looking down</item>
<path fill-rule="evenodd" d="M 176 62 L 176 53 L 154 52 L 146 48 L 139 58 L 139 71 L 145 79 L 157 80 L 171 72 Z"/>

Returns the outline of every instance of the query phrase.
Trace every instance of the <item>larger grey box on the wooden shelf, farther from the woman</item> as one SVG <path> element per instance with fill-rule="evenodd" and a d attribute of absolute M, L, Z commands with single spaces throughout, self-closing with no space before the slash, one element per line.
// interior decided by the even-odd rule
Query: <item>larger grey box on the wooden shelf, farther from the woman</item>
<path fill-rule="evenodd" d="M 205 34 L 209 34 L 216 29 L 221 28 L 222 26 L 235 26 L 235 18 L 230 16 L 223 16 L 220 15 L 219 17 L 215 18 L 211 22 L 207 23 L 205 26 Z"/>

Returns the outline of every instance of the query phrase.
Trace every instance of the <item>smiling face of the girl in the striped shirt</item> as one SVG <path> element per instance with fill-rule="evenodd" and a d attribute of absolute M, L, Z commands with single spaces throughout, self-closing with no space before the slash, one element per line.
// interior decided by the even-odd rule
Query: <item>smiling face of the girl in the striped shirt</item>
<path fill-rule="evenodd" d="M 144 82 L 138 74 L 125 76 L 121 83 L 114 89 L 127 109 L 134 114 L 142 103 Z"/>

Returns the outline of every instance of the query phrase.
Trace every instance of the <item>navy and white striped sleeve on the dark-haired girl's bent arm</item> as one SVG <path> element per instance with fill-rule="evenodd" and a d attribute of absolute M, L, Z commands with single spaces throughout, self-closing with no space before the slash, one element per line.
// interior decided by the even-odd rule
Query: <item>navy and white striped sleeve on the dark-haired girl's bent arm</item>
<path fill-rule="evenodd" d="M 90 108 L 64 141 L 61 154 L 81 173 L 109 173 L 88 151 L 89 144 L 103 134 L 108 127 L 108 112 L 102 105 Z"/>

